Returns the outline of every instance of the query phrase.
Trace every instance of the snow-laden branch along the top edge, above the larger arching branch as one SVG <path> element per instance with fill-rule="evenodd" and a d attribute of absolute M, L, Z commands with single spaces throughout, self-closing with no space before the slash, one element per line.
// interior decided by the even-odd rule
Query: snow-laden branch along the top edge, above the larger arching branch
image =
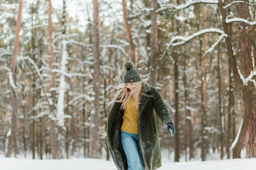
<path fill-rule="evenodd" d="M 161 8 L 157 9 L 156 12 L 163 11 L 165 9 L 174 9 L 173 11 L 178 11 L 180 9 L 188 8 L 189 6 L 195 5 L 197 3 L 218 4 L 218 0 L 192 0 L 181 5 L 165 4 L 162 5 Z"/>

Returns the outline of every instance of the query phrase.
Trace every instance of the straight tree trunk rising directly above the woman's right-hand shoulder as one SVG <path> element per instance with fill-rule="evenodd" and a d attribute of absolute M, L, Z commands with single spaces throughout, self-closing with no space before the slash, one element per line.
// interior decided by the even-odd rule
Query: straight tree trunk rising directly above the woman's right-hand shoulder
<path fill-rule="evenodd" d="M 150 34 L 150 59 L 149 59 L 149 68 L 150 68 L 150 85 L 156 86 L 156 75 L 157 75 L 157 0 L 151 0 L 151 34 Z M 176 133 L 177 136 L 177 133 Z"/>

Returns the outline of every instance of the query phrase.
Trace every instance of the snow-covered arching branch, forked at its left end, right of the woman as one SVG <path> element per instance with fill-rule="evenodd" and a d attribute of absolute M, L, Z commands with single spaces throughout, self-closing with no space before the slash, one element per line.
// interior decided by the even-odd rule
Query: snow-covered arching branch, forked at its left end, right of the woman
<path fill-rule="evenodd" d="M 215 33 L 219 33 L 219 34 L 224 34 L 224 31 L 219 29 L 219 28 L 207 28 L 207 29 L 203 29 L 201 31 L 198 31 L 194 34 L 189 35 L 188 37 L 183 37 L 183 36 L 174 36 L 172 38 L 172 40 L 169 42 L 169 44 L 166 47 L 166 50 L 163 52 L 161 59 L 163 59 L 163 56 L 166 54 L 167 50 L 170 48 L 170 46 L 177 46 L 177 45 L 181 45 L 181 44 L 185 44 L 186 42 L 188 42 L 189 40 L 192 40 L 195 37 L 198 37 L 199 35 L 205 34 L 205 33 L 210 33 L 210 32 L 215 32 Z M 181 40 L 180 42 L 175 42 L 176 40 Z"/>

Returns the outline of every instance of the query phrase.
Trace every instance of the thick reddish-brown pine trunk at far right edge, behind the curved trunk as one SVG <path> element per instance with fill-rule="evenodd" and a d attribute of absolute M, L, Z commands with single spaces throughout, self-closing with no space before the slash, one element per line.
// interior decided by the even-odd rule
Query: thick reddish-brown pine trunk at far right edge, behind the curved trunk
<path fill-rule="evenodd" d="M 249 0 L 244 0 L 249 3 Z M 244 19 L 250 19 L 249 5 L 247 3 L 238 3 L 237 13 L 238 17 Z M 250 41 L 251 36 L 253 35 L 250 29 L 247 29 L 248 25 L 246 23 L 239 23 L 239 35 L 240 37 L 240 57 L 241 57 L 241 74 L 244 77 L 248 77 L 252 71 L 254 71 L 254 58 L 253 58 L 253 43 Z M 255 40 L 255 39 L 254 39 Z M 244 123 L 249 124 L 246 133 L 246 157 L 252 158 L 256 157 L 256 95 L 255 95 L 255 86 L 253 82 L 249 82 L 248 85 L 244 86 L 243 89 L 243 99 L 245 112 L 244 115 L 248 114 L 248 122 Z"/>

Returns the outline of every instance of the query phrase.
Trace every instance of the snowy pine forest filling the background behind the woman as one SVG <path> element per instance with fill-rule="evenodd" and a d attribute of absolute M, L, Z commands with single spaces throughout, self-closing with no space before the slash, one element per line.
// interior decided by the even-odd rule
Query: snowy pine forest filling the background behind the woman
<path fill-rule="evenodd" d="M 1 158 L 111 161 L 128 60 L 174 121 L 164 161 L 255 158 L 254 57 L 256 0 L 0 0 Z"/>

